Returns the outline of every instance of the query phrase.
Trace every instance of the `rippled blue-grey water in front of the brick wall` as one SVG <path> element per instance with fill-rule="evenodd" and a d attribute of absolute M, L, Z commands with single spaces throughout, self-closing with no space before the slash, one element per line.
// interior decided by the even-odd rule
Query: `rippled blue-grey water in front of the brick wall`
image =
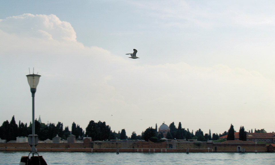
<path fill-rule="evenodd" d="M 28 152 L 0 152 L 0 165 L 18 165 Z M 275 153 L 40 152 L 48 165 L 274 165 Z"/>

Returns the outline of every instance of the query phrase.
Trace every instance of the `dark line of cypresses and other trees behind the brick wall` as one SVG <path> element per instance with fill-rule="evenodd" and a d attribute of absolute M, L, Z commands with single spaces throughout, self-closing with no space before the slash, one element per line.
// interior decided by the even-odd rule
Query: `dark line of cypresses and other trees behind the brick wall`
<path fill-rule="evenodd" d="M 213 133 L 211 135 L 211 130 L 209 129 L 209 133 L 203 133 L 201 129 L 195 131 L 193 130 L 190 132 L 189 129 L 182 128 L 181 122 L 178 123 L 178 127 L 175 126 L 175 123 L 172 122 L 169 125 L 170 131 L 167 133 L 166 138 L 169 140 L 178 139 L 178 140 L 190 140 L 190 139 L 197 139 L 198 141 L 207 141 L 207 140 L 218 140 L 219 137 L 228 135 L 227 140 L 233 139 L 234 137 L 234 128 L 231 124 L 231 127 L 228 131 L 224 131 L 222 134 Z M 135 131 L 132 132 L 130 137 L 127 137 L 125 129 L 118 131 L 111 130 L 109 125 L 106 125 L 105 122 L 95 122 L 91 120 L 87 125 L 85 131 L 80 127 L 80 125 L 76 125 L 76 123 L 72 123 L 71 132 L 69 131 L 69 127 L 66 126 L 63 129 L 63 123 L 58 122 L 55 123 L 40 123 L 35 120 L 35 133 L 38 135 L 39 140 L 52 140 L 53 137 L 58 135 L 62 139 L 66 140 L 70 134 L 75 135 L 77 137 L 88 136 L 92 137 L 93 141 L 102 141 L 102 140 L 145 140 L 145 141 L 153 141 L 153 142 L 160 142 L 161 138 L 164 135 L 161 132 L 157 131 L 157 124 L 155 128 L 148 127 L 145 131 L 142 131 L 141 135 L 137 135 Z M 240 140 L 246 140 L 246 132 L 244 127 L 241 126 L 240 128 Z M 249 131 L 250 132 L 250 131 Z M 251 129 L 252 132 L 252 129 Z M 258 129 L 254 132 L 266 132 L 264 129 Z M 26 136 L 32 134 L 32 123 L 27 125 L 27 123 L 23 123 L 19 121 L 17 125 L 15 122 L 14 116 L 12 117 L 11 121 L 8 120 L 4 121 L 2 126 L 0 127 L 0 138 L 5 139 L 8 141 L 16 140 L 16 137 Z M 232 136 L 233 135 L 233 136 Z"/>

